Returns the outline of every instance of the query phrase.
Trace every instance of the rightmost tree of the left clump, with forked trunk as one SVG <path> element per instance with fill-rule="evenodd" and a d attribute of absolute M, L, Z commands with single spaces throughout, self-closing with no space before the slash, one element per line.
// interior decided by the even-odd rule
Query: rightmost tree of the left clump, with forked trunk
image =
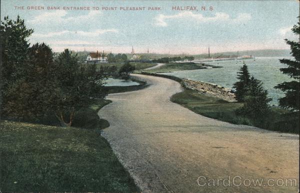
<path fill-rule="evenodd" d="M 106 95 L 102 88 L 102 73 L 97 73 L 96 65 L 80 66 L 77 56 L 68 49 L 60 53 L 56 59 L 57 90 L 53 109 L 57 119 L 63 126 L 72 124 L 75 113 L 93 104 L 95 100 Z"/>

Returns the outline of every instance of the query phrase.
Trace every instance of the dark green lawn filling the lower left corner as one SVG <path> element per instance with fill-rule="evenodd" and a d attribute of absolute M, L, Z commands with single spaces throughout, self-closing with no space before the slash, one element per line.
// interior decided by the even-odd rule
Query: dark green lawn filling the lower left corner
<path fill-rule="evenodd" d="M 1 192 L 137 191 L 94 130 L 1 122 Z"/>

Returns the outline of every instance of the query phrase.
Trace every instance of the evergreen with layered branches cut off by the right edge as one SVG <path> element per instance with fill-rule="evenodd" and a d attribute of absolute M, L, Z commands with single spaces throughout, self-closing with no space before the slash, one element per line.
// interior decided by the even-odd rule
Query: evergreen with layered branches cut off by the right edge
<path fill-rule="evenodd" d="M 300 18 L 300 17 L 298 17 Z M 291 29 L 294 34 L 298 37 L 300 35 L 300 22 L 297 25 L 294 25 Z M 287 68 L 280 68 L 280 71 L 283 74 L 289 75 L 294 80 L 290 82 L 283 82 L 275 86 L 275 88 L 285 92 L 285 96 L 279 99 L 279 105 L 281 107 L 299 111 L 299 96 L 300 96 L 300 43 L 299 41 L 290 41 L 285 39 L 285 42 L 290 45 L 291 55 L 294 57 L 294 60 L 290 59 L 281 59 L 280 62 L 287 64 Z"/>

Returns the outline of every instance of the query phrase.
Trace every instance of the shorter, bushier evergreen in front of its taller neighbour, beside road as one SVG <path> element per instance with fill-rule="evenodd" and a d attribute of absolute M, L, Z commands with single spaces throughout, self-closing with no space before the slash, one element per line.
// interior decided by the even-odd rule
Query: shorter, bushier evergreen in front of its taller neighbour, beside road
<path fill-rule="evenodd" d="M 270 110 L 267 103 L 271 100 L 267 97 L 267 91 L 262 88 L 261 81 L 252 76 L 244 96 L 244 105 L 237 110 L 237 114 L 248 117 L 260 126 Z"/>

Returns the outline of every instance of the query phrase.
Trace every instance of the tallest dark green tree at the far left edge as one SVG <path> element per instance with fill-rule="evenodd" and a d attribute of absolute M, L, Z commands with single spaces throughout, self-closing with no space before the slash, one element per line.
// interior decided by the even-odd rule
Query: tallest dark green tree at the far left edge
<path fill-rule="evenodd" d="M 17 16 L 16 20 L 11 20 L 8 16 L 4 16 L 4 20 L 0 25 L 1 39 L 1 62 L 0 62 L 0 109 L 1 114 L 6 110 L 11 110 L 8 99 L 12 96 L 10 88 L 17 88 L 27 73 L 28 60 L 28 37 L 33 32 L 27 29 L 24 20 Z M 17 94 L 17 93 L 16 93 Z"/>

